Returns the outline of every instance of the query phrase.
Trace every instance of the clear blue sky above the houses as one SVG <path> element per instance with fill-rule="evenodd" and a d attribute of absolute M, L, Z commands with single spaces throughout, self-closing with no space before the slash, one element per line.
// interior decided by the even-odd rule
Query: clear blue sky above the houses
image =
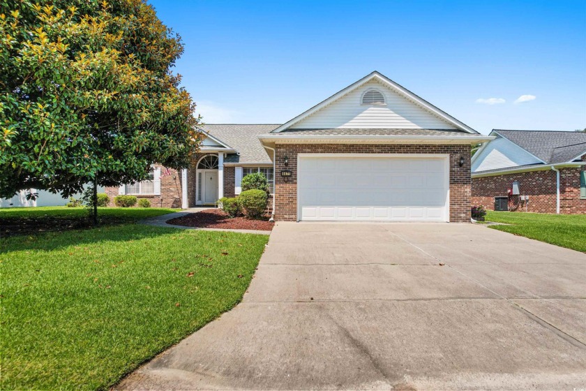
<path fill-rule="evenodd" d="M 149 3 L 207 123 L 282 124 L 376 70 L 481 133 L 586 127 L 584 0 Z"/>

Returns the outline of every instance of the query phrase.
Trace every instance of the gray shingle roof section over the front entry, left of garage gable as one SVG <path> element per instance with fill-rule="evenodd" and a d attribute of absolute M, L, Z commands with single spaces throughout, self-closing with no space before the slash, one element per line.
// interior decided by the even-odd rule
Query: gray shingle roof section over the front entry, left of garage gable
<path fill-rule="evenodd" d="M 224 159 L 225 163 L 271 163 L 258 135 L 269 133 L 279 126 L 280 124 L 208 124 L 200 128 L 240 153 L 229 154 Z"/>

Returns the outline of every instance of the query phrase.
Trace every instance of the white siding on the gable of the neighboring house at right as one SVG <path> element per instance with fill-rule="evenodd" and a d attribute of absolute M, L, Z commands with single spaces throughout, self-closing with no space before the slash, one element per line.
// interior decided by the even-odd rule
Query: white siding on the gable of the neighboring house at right
<path fill-rule="evenodd" d="M 478 154 L 474 156 L 472 172 L 542 163 L 525 149 L 503 137 L 488 142 Z"/>

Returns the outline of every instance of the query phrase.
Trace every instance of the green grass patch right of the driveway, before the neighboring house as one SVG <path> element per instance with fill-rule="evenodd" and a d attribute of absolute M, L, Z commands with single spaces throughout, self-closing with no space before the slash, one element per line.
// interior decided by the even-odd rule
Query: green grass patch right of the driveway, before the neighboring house
<path fill-rule="evenodd" d="M 511 224 L 490 226 L 495 230 L 541 240 L 586 253 L 586 215 L 493 212 L 487 221 Z"/>

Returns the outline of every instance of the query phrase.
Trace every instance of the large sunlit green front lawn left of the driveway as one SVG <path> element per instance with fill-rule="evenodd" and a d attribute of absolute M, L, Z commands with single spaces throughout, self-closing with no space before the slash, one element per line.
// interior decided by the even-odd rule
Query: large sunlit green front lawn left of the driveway
<path fill-rule="evenodd" d="M 112 385 L 116 385 L 122 378 L 128 376 L 144 362 L 148 362 L 156 355 L 170 348 L 170 346 L 174 346 L 189 334 L 200 330 L 201 327 L 239 304 L 250 285 L 250 281 L 252 281 L 255 268 L 268 239 L 269 237 L 266 235 L 178 230 L 133 223 L 90 230 L 73 230 L 67 233 L 45 233 L 34 237 L 18 236 L 2 239 L 0 268 L 2 275 L 8 277 L 3 278 L 0 283 L 2 294 L 0 307 L 3 314 L 1 331 L 3 376 L 0 383 L 1 388 L 3 390 L 24 388 L 106 390 Z M 146 243 L 149 242 L 150 244 L 146 246 Z M 176 245 L 176 242 L 181 242 L 181 245 Z M 146 246 L 147 248 L 141 246 Z M 93 258 L 93 253 L 98 253 L 100 250 L 108 250 L 105 253 L 109 255 L 102 253 L 102 256 L 105 256 L 103 262 L 93 263 L 91 259 Z M 120 256 L 125 251 L 134 251 L 134 256 L 124 261 L 124 263 L 119 263 Z M 143 251 L 143 253 L 141 254 L 140 251 Z M 70 253 L 73 253 L 73 255 L 70 256 Z M 165 253 L 166 256 L 161 257 L 161 253 Z M 223 253 L 226 254 L 223 255 Z M 141 256 L 147 257 L 145 259 L 149 260 L 154 258 L 161 259 L 153 261 L 156 264 L 155 267 L 145 267 L 145 265 L 136 263 L 137 258 Z M 73 257 L 69 258 L 69 261 L 75 260 L 77 274 L 79 275 L 72 276 L 70 275 L 71 273 L 68 274 L 67 270 L 62 270 L 63 266 L 68 265 L 67 261 L 65 263 L 57 261 L 57 265 L 55 263 L 47 265 L 47 259 L 59 260 L 59 258 L 68 257 Z M 195 262 L 196 259 L 197 262 Z M 145 273 L 144 279 L 133 279 L 130 277 L 135 275 L 134 270 L 133 273 L 130 273 L 128 281 L 126 281 L 126 283 L 130 284 L 128 286 L 132 288 L 131 290 L 138 290 L 137 300 L 139 304 L 137 305 L 140 307 L 147 304 L 148 306 L 156 307 L 151 309 L 149 312 L 151 314 L 158 314 L 157 308 L 163 312 L 163 320 L 156 326 L 157 330 L 147 332 L 147 334 L 139 338 L 142 341 L 140 344 L 144 344 L 144 341 L 152 341 L 150 346 L 145 346 L 140 351 L 131 352 L 130 354 L 124 352 L 133 351 L 133 349 L 137 348 L 136 344 L 130 343 L 117 346 L 114 349 L 115 352 L 109 354 L 113 356 L 122 354 L 124 358 L 118 357 L 112 366 L 104 364 L 105 361 L 112 361 L 110 360 L 112 357 L 108 357 L 108 360 L 100 360 L 99 357 L 96 357 L 96 349 L 93 350 L 93 354 L 91 354 L 90 349 L 90 353 L 80 353 L 81 357 L 73 355 L 72 360 L 64 360 L 67 364 L 63 364 L 61 367 L 59 365 L 57 367 L 50 365 L 47 367 L 47 363 L 44 361 L 47 357 L 43 358 L 42 354 L 35 355 L 30 352 L 20 352 L 22 351 L 20 349 L 22 346 L 24 346 L 25 351 L 27 347 L 30 348 L 33 345 L 36 346 L 36 350 L 40 351 L 43 350 L 43 346 L 45 348 L 50 346 L 51 348 L 57 348 L 57 351 L 63 353 L 65 357 L 70 356 L 71 353 L 68 353 L 66 349 L 64 351 L 59 349 L 59 341 L 56 342 L 51 338 L 55 337 L 60 331 L 59 321 L 54 325 L 49 321 L 47 325 L 47 316 L 51 314 L 47 315 L 46 311 L 43 313 L 40 310 L 51 307 L 47 304 L 47 300 L 42 300 L 42 297 L 59 297 L 59 294 L 66 292 L 67 295 L 80 295 L 83 300 L 89 299 L 93 307 L 97 306 L 100 309 L 100 300 L 98 299 L 103 298 L 104 292 L 111 294 L 111 292 L 119 288 L 119 286 L 114 286 L 114 283 L 120 283 L 125 280 L 122 278 L 122 281 L 117 281 L 120 276 L 117 276 L 116 272 L 123 270 L 126 265 L 131 263 L 135 263 L 134 266 Z M 171 263 L 173 265 L 170 268 Z M 116 265 L 116 267 L 113 267 L 113 265 Z M 40 272 L 35 270 L 41 270 L 42 273 L 45 273 L 47 266 L 51 266 L 49 270 L 54 269 L 52 273 L 49 273 L 49 281 L 69 281 L 70 285 L 78 288 L 82 287 L 83 289 L 72 288 L 68 290 L 62 288 L 67 286 L 67 284 L 63 283 L 61 283 L 61 288 L 59 289 L 47 288 L 42 281 L 36 281 L 34 277 Z M 177 270 L 173 271 L 174 267 Z M 160 276 L 163 272 L 170 275 Z M 195 274 L 189 277 L 190 272 Z M 93 278 L 98 278 L 95 284 L 93 283 Z M 198 278 L 200 279 L 199 283 L 195 283 Z M 109 279 L 113 280 L 110 281 Z M 163 296 L 166 295 L 167 297 L 161 300 L 144 297 L 144 292 L 151 292 L 155 289 L 156 283 L 151 283 L 153 286 L 149 290 L 142 291 L 142 288 L 149 283 L 148 281 L 153 279 L 155 281 L 160 279 L 164 282 L 163 288 L 165 289 L 162 292 Z M 105 282 L 102 288 L 98 288 L 97 285 L 102 280 Z M 179 285 L 176 285 L 177 283 Z M 23 285 L 28 284 L 30 286 L 23 287 Z M 106 284 L 110 285 L 107 290 Z M 193 290 L 194 287 L 198 289 Z M 158 288 L 161 288 L 161 286 Z M 195 297 L 190 297 L 190 295 L 181 294 L 181 291 L 186 289 L 192 289 L 193 295 L 199 296 L 199 298 L 196 299 Z M 89 290 L 89 293 L 84 293 L 85 290 Z M 120 304 L 128 304 L 128 297 L 123 296 L 121 295 L 118 299 Z M 41 297 L 40 301 L 39 297 Z M 175 307 L 174 300 L 181 302 L 179 307 Z M 48 301 L 50 302 L 51 300 Z M 34 316 L 27 315 L 26 311 L 19 311 L 18 306 L 15 305 L 16 302 L 18 306 L 22 306 L 23 303 L 27 304 L 27 311 L 34 314 Z M 199 307 L 195 308 L 194 303 L 197 303 Z M 70 307 L 75 307 L 73 312 L 67 308 L 68 305 L 63 303 L 59 305 L 59 301 L 57 301 L 57 304 L 52 304 L 57 320 L 68 320 L 72 317 L 72 313 L 75 315 L 75 311 L 84 309 L 83 306 L 79 306 L 79 303 L 72 302 L 70 304 Z M 174 317 L 174 313 L 181 313 L 184 309 L 190 309 L 186 311 L 188 316 L 184 314 L 179 316 L 179 319 Z M 101 311 L 105 310 L 102 308 Z M 110 317 L 105 317 L 112 320 L 117 317 L 123 318 L 123 315 L 123 311 L 114 311 L 114 314 L 111 314 Z M 96 316 L 96 318 L 100 318 L 100 316 Z M 130 323 L 128 321 L 126 323 L 122 322 L 124 323 L 122 327 L 137 325 L 140 323 L 138 320 L 140 320 L 140 316 L 134 313 L 130 316 Z M 105 321 L 105 323 L 107 322 Z M 165 325 L 165 323 L 167 324 Z M 86 326 L 78 324 L 75 327 L 63 327 L 61 331 L 63 334 L 68 335 L 71 335 L 70 333 L 72 332 L 75 333 L 76 329 L 82 330 L 81 332 L 87 332 L 87 330 L 84 331 Z M 20 329 L 20 332 L 18 329 Z M 89 331 L 95 332 L 96 329 L 100 330 L 100 325 L 89 327 L 89 329 Z M 50 337 L 43 341 L 43 337 L 38 335 L 39 332 L 43 332 L 45 335 L 49 334 Z M 24 334 L 27 334 L 28 337 Z M 130 327 L 128 333 L 119 333 L 117 338 L 131 337 L 132 334 L 133 330 Z M 91 337 L 91 333 L 89 336 Z M 95 343 L 96 340 L 93 339 L 93 342 Z M 98 344 L 100 344 L 99 341 Z M 102 348 L 107 347 L 107 339 L 101 344 L 103 344 Z M 15 345 L 19 347 L 16 349 L 17 352 L 13 348 Z M 19 352 L 22 353 L 20 357 Z M 47 354 L 50 356 L 49 353 Z M 10 364 L 10 362 L 13 362 L 13 364 Z M 15 378 L 15 368 L 18 368 L 22 376 Z"/>

